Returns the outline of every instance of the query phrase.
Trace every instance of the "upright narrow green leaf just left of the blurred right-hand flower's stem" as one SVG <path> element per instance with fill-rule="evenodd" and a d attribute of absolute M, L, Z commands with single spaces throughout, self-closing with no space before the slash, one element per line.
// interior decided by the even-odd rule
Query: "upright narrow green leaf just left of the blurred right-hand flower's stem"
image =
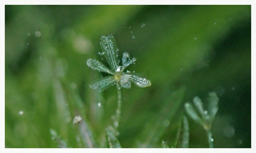
<path fill-rule="evenodd" d="M 182 142 L 181 142 L 181 148 L 188 148 L 189 143 L 189 126 L 188 126 L 188 120 L 186 116 L 183 116 L 183 132 L 182 132 Z"/>

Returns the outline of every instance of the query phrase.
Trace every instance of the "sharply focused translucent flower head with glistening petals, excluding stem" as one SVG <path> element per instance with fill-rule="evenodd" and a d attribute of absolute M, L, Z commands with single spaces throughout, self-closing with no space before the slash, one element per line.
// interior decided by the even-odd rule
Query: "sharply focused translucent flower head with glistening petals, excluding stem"
<path fill-rule="evenodd" d="M 93 89 L 104 91 L 113 84 L 117 83 L 124 88 L 131 88 L 131 82 L 138 87 L 148 87 L 151 86 L 150 80 L 144 78 L 142 74 L 135 72 L 124 72 L 124 70 L 132 63 L 136 61 L 135 58 L 130 59 L 128 53 L 123 53 L 122 66 L 119 66 L 118 59 L 118 48 L 116 46 L 115 39 L 112 35 L 107 37 L 102 36 L 100 42 L 102 53 L 109 63 L 110 69 L 103 65 L 100 61 L 96 59 L 88 59 L 87 65 L 93 70 L 98 70 L 101 72 L 106 72 L 111 74 L 110 76 L 100 78 L 89 86 Z"/>

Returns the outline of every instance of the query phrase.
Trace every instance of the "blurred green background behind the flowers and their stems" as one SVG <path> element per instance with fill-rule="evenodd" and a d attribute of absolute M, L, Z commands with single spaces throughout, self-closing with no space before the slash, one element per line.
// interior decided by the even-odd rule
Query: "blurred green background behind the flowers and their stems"
<path fill-rule="evenodd" d="M 5 5 L 5 147 L 107 147 L 105 128 L 117 105 L 115 86 L 89 84 L 105 73 L 100 38 L 112 34 L 127 70 L 152 82 L 122 88 L 123 148 L 177 147 L 184 103 L 219 97 L 216 148 L 251 148 L 251 6 Z M 75 116 L 80 124 L 73 124 Z M 189 148 L 207 148 L 191 118 Z"/>

